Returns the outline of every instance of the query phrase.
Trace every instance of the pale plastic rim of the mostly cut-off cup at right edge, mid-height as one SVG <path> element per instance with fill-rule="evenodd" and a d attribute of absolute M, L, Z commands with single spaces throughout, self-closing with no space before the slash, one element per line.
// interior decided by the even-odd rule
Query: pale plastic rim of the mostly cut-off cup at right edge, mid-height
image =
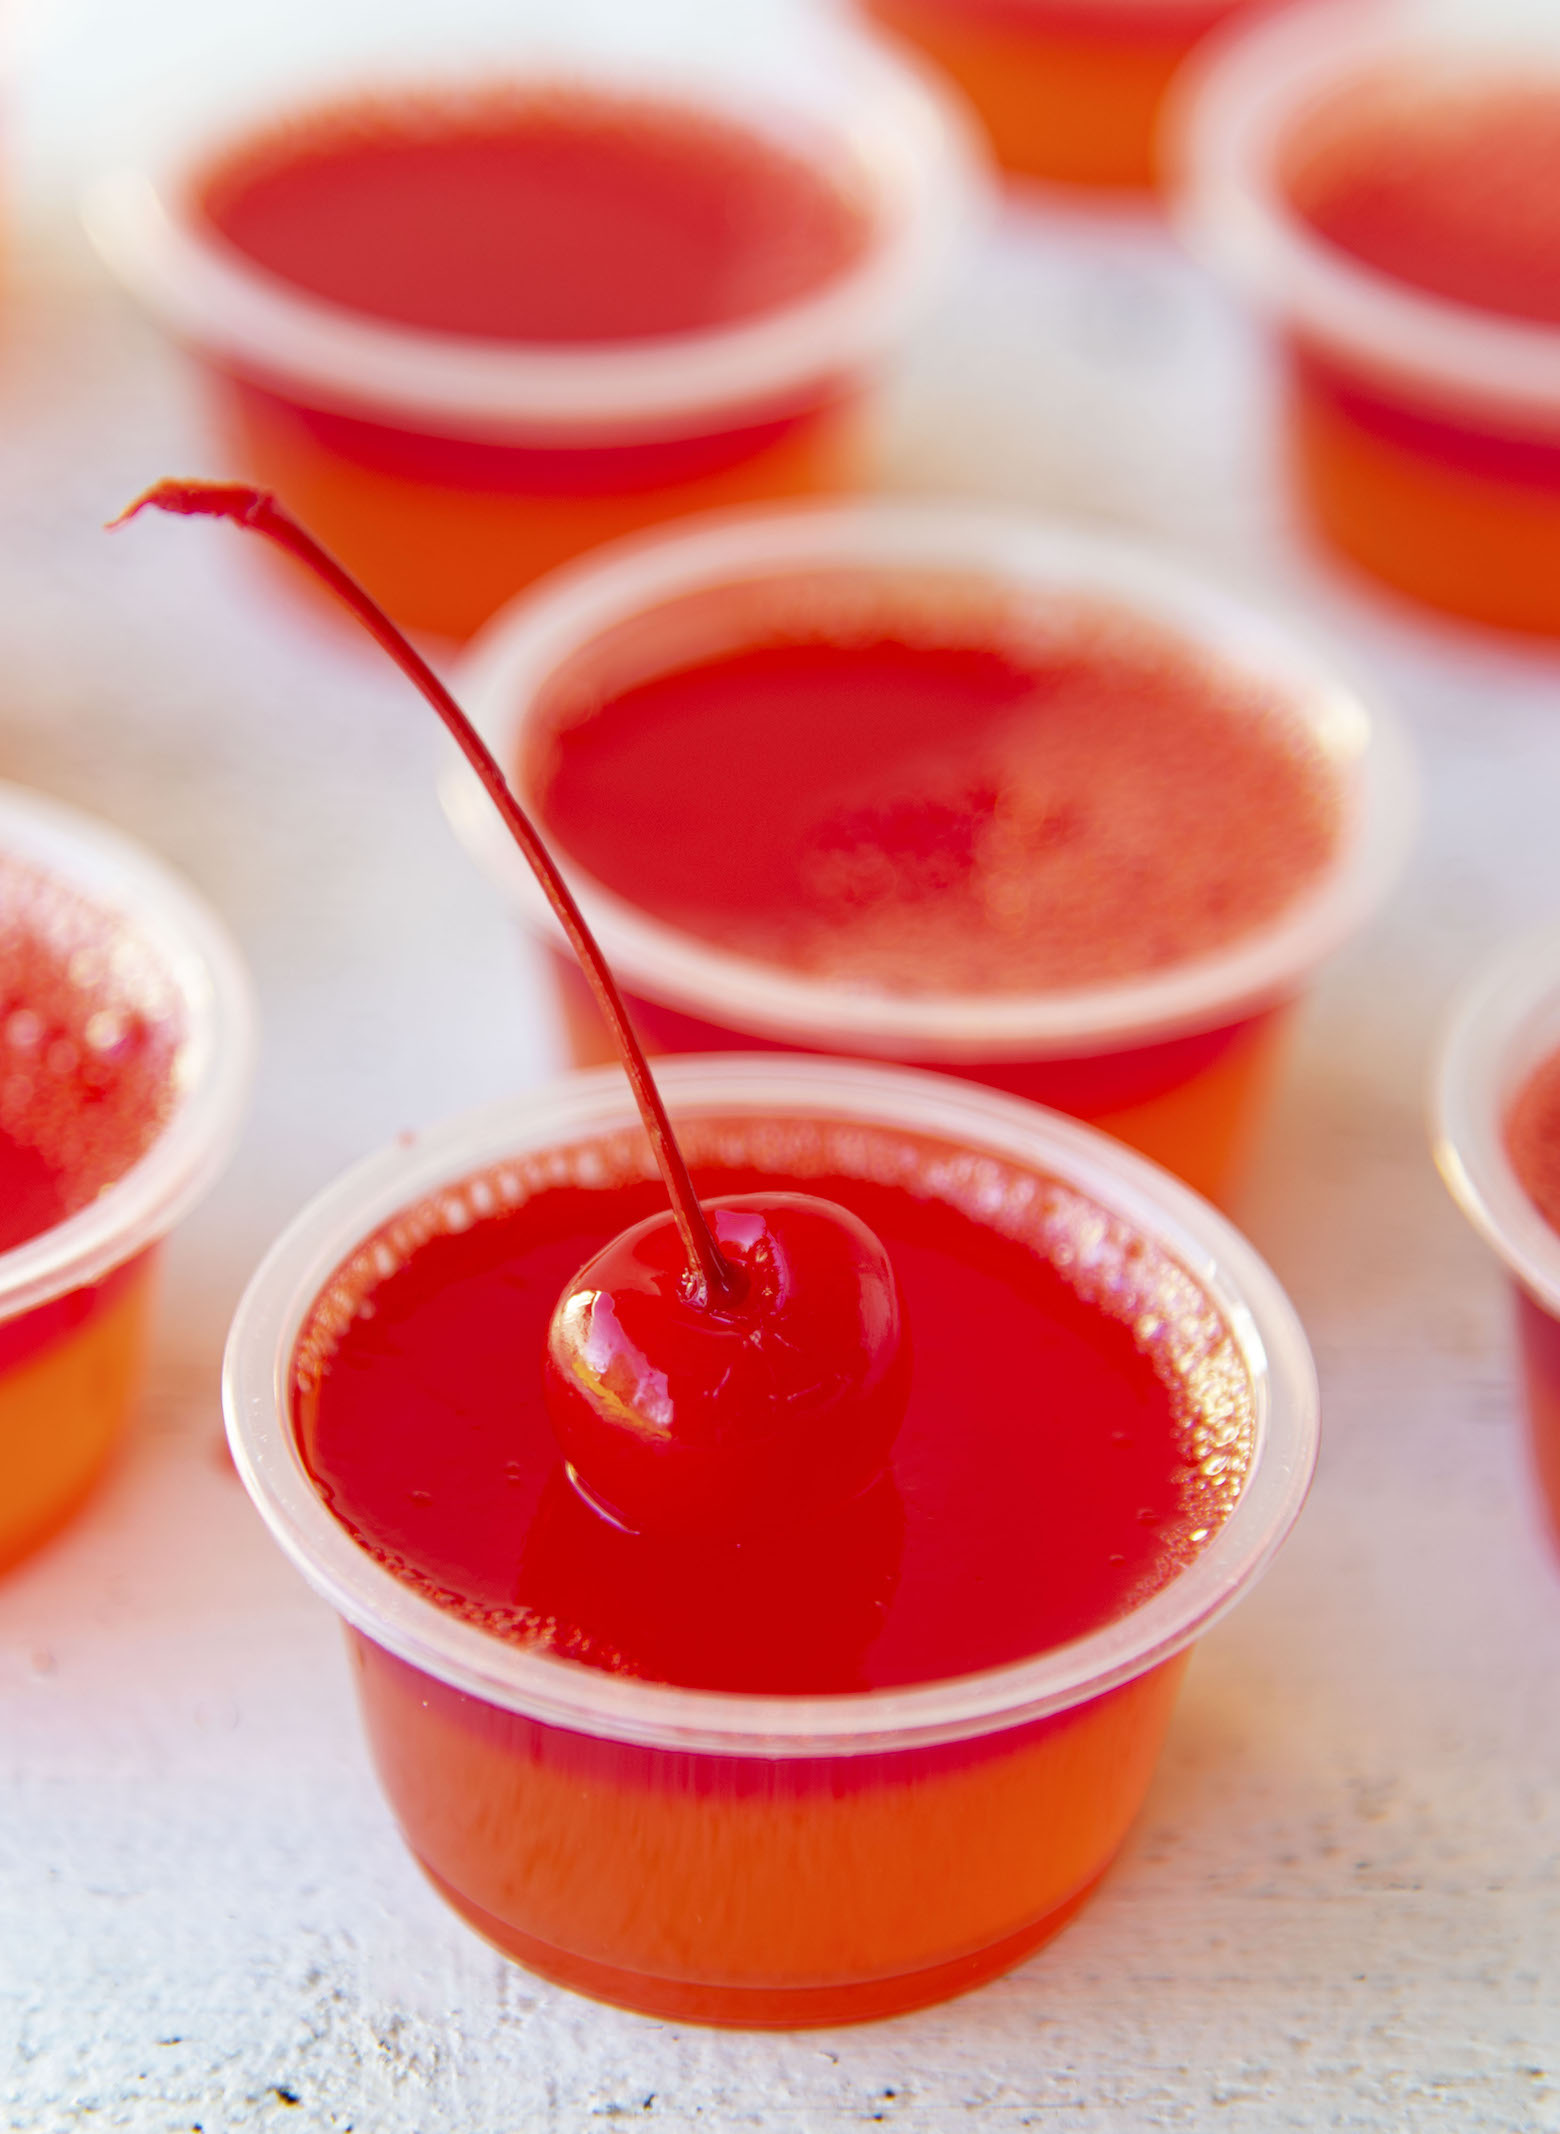
<path fill-rule="evenodd" d="M 1455 1204 L 1507 1272 L 1560 1317 L 1560 1236 L 1507 1154 L 1522 1082 L 1560 1050 L 1560 926 L 1511 941 L 1458 992 L 1430 1078 L 1430 1142 Z"/>

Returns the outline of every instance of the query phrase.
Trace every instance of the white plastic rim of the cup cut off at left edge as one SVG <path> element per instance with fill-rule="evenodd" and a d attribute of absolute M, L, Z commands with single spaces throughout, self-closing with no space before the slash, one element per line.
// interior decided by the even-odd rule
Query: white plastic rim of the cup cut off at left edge
<path fill-rule="evenodd" d="M 156 1244 L 205 1195 L 243 1122 L 254 997 L 228 930 L 169 866 L 120 830 L 0 783 L 0 849 L 117 915 L 154 950 L 184 1009 L 173 1110 L 85 1208 L 0 1253 L 0 1319 L 100 1280 Z"/>

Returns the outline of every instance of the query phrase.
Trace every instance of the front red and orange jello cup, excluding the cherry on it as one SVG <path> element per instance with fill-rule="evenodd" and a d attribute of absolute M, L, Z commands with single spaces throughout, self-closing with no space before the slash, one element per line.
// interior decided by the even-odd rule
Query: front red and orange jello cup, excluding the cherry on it
<path fill-rule="evenodd" d="M 346 1613 L 391 1803 L 480 1931 L 670 2017 L 909 2008 L 1105 1869 L 1184 1643 L 1298 1509 L 1308 1359 L 1210 1210 L 1033 1108 L 851 1063 L 664 1082 L 704 1191 L 824 1191 L 888 1244 L 913 1349 L 888 1477 L 741 1545 L 576 1496 L 546 1317 L 659 1201 L 615 1076 L 316 1204 L 235 1325 L 235 1455 Z"/>

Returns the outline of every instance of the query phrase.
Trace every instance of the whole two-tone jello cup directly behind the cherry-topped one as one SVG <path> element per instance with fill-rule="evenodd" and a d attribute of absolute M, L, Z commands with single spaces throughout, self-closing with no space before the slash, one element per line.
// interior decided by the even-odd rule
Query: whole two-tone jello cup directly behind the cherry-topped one
<path fill-rule="evenodd" d="M 519 604 L 463 685 L 653 1046 L 948 1067 L 1204 1191 L 1404 832 L 1391 728 L 1285 632 L 1022 519 L 668 531 Z M 538 922 L 465 779 L 448 802 Z"/>

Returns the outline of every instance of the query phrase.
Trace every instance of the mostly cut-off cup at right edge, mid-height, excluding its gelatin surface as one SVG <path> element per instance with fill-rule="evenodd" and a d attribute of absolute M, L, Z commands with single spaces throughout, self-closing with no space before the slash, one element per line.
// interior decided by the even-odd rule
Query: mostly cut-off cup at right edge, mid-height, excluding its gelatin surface
<path fill-rule="evenodd" d="M 1528 935 L 1460 992 L 1436 1058 L 1432 1137 L 1451 1197 L 1511 1276 L 1528 1432 L 1560 1549 L 1560 1236 L 1507 1152 L 1507 1116 L 1528 1076 L 1560 1052 L 1560 928 Z"/>

